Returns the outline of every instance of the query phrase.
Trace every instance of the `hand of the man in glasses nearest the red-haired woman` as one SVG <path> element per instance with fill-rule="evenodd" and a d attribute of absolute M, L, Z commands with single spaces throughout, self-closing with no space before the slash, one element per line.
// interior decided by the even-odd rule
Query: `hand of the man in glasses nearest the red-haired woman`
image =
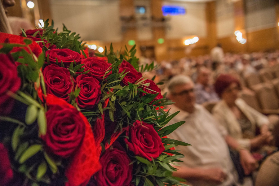
<path fill-rule="evenodd" d="M 244 169 L 245 175 L 249 175 L 252 171 L 258 168 L 259 165 L 257 161 L 255 160 L 255 158 L 253 158 L 253 156 L 248 150 L 241 149 L 239 151 L 239 155 L 240 155 L 240 162 Z"/>

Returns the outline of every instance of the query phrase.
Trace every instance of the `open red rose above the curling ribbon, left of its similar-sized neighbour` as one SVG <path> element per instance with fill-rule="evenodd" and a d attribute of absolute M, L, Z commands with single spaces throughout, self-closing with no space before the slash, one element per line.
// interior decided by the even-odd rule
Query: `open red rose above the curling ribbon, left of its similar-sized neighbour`
<path fill-rule="evenodd" d="M 68 69 L 52 64 L 45 67 L 43 76 L 47 93 L 69 101 L 69 93 L 72 91 L 73 83 Z"/>

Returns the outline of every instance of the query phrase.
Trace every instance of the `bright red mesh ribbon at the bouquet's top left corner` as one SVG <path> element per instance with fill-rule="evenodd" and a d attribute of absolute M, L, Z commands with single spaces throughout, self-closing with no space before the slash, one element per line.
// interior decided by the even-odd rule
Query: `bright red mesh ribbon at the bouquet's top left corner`
<path fill-rule="evenodd" d="M 13 44 L 21 44 L 21 45 L 25 45 L 24 43 L 24 39 L 28 39 L 26 37 L 22 37 L 22 36 L 17 36 L 17 35 L 13 35 L 13 34 L 7 34 L 7 33 L 3 33 L 0 32 L 0 43 L 13 43 Z M 31 39 L 29 39 L 31 40 Z M 32 41 L 32 40 L 31 40 Z M 40 54 L 42 54 L 42 49 L 40 47 L 40 45 L 38 45 L 38 43 L 36 43 L 35 41 L 32 41 L 32 43 L 30 45 L 28 45 L 31 49 L 31 51 L 38 57 Z M 0 49 L 2 48 L 2 45 L 0 45 Z M 21 49 L 26 50 L 29 54 L 30 51 L 28 49 L 28 47 L 14 47 L 13 50 L 11 50 L 11 52 L 17 52 L 20 51 Z"/>

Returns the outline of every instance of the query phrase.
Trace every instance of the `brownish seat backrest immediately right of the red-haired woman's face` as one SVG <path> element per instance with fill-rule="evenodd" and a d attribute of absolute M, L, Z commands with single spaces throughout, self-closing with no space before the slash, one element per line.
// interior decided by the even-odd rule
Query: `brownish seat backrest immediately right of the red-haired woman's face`
<path fill-rule="evenodd" d="M 243 99 L 250 107 L 255 110 L 261 111 L 256 93 L 250 89 L 243 89 L 239 93 L 239 97 Z"/>

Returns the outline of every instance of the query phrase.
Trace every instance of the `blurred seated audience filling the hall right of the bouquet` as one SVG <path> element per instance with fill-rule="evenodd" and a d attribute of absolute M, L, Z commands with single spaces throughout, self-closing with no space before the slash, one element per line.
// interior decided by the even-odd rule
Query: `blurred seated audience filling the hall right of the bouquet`
<path fill-rule="evenodd" d="M 162 61 L 153 78 L 175 102 L 168 137 L 185 158 L 175 176 L 189 185 L 279 185 L 279 51 Z M 270 167 L 270 168 L 268 168 Z"/>

